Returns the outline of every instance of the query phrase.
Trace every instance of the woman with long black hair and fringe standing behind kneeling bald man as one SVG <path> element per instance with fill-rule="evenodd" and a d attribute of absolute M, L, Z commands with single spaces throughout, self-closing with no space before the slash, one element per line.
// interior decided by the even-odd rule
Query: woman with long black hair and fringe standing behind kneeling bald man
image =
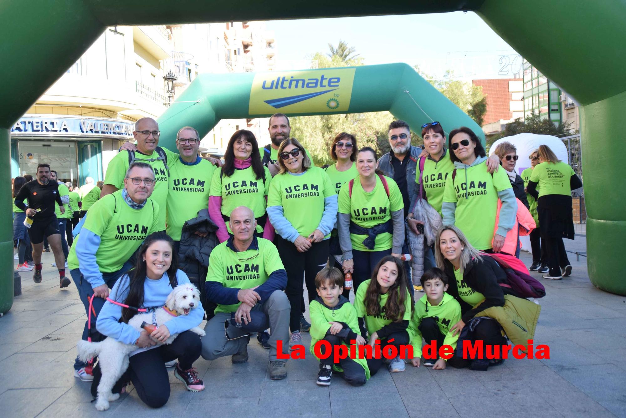
<path fill-rule="evenodd" d="M 208 198 L 208 215 L 217 225 L 220 242 L 232 235 L 227 222 L 230 212 L 239 206 L 247 206 L 254 212 L 255 235 L 274 240 L 274 228 L 265 213 L 270 181 L 272 176 L 261 163 L 254 133 L 243 129 L 233 133 L 226 146 L 224 165 L 213 173 Z"/>

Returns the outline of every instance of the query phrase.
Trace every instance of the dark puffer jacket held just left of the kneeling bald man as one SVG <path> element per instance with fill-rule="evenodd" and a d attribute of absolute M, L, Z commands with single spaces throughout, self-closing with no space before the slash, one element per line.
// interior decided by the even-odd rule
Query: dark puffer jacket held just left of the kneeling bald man
<path fill-rule="evenodd" d="M 206 237 L 200 237 L 195 232 L 208 232 Z M 183 270 L 200 290 L 200 300 L 204 303 L 204 282 L 207 280 L 208 256 L 213 248 L 219 245 L 216 233 L 217 225 L 208 216 L 208 209 L 202 209 L 198 216 L 188 220 L 183 225 L 180 235 L 180 249 L 178 250 L 178 268 Z"/>

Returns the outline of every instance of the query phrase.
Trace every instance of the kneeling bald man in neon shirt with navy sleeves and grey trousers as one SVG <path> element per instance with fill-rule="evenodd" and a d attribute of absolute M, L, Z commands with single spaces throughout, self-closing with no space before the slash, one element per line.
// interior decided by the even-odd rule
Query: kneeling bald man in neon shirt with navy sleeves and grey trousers
<path fill-rule="evenodd" d="M 254 212 L 239 206 L 230 213 L 233 237 L 211 252 L 205 290 L 217 303 L 215 316 L 202 337 L 202 357 L 215 360 L 231 355 L 233 364 L 248 361 L 250 332 L 270 329 L 270 379 L 287 377 L 285 359 L 277 359 L 277 341 L 283 353 L 289 347 L 290 305 L 283 292 L 287 273 L 273 243 L 255 237 Z"/>

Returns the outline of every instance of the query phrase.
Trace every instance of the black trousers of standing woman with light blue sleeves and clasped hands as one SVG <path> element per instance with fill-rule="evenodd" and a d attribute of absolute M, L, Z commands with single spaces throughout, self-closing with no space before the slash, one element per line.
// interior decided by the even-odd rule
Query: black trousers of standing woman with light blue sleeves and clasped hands
<path fill-rule="evenodd" d="M 302 314 L 302 281 L 307 285 L 309 303 L 316 297 L 315 277 L 319 270 L 326 267 L 328 262 L 328 240 L 316 242 L 308 251 L 298 252 L 294 243 L 276 235 L 274 244 L 278 249 L 280 260 L 287 272 L 287 287 L 285 293 L 291 304 L 289 328 L 291 332 L 300 330 L 300 314 Z"/>

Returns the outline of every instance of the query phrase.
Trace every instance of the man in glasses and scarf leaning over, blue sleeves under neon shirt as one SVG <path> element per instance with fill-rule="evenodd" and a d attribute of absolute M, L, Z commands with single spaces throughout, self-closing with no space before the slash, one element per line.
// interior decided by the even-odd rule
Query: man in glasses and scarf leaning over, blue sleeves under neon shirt
<path fill-rule="evenodd" d="M 95 325 L 109 289 L 133 267 L 128 259 L 143 240 L 160 228 L 159 206 L 150 198 L 156 185 L 153 168 L 147 163 L 131 163 L 123 182 L 122 190 L 103 196 L 91 206 L 76 243 L 69 250 L 69 274 L 76 283 L 87 314 L 89 298 L 93 298 L 92 341 L 104 338 Z M 83 340 L 89 336 L 85 322 Z M 86 366 L 77 359 L 74 376 L 85 381 L 93 380 L 91 369 Z"/>

